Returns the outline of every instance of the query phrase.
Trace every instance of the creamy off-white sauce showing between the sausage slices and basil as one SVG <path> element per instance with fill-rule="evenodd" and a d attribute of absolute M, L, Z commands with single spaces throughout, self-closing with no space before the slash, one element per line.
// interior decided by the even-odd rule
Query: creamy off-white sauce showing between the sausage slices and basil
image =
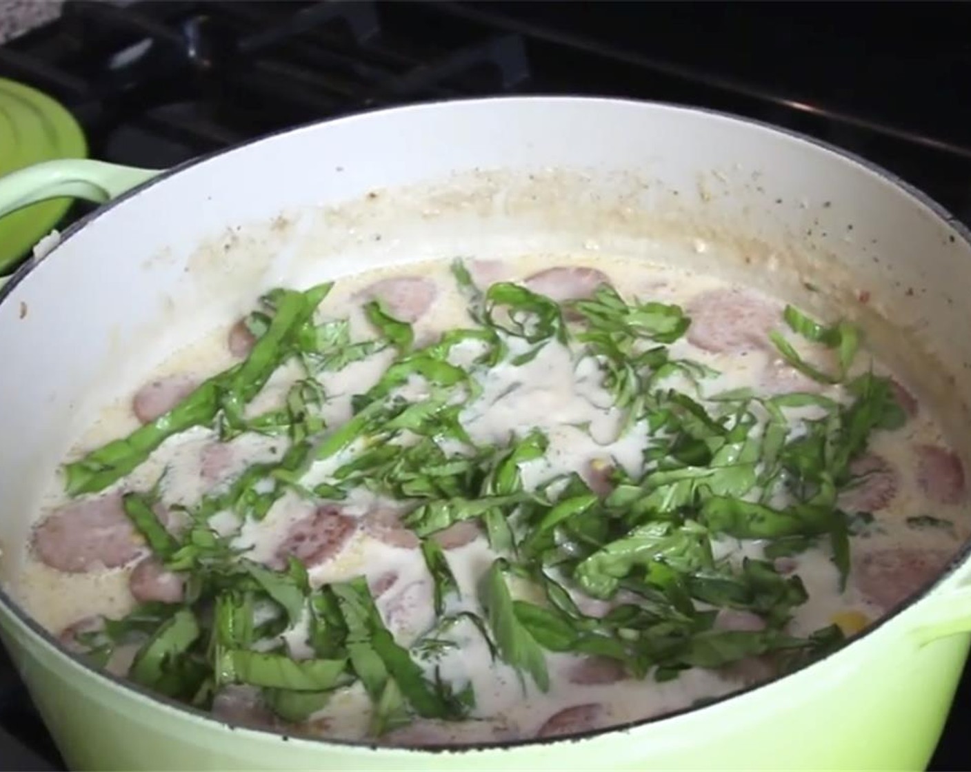
<path fill-rule="evenodd" d="M 519 281 L 537 271 L 563 265 L 579 267 L 590 263 L 588 258 L 581 263 L 537 256 L 516 264 L 480 265 L 478 275 L 487 277 L 488 282 Z M 692 301 L 704 293 L 725 290 L 729 286 L 710 276 L 624 260 L 601 258 L 595 267 L 606 274 L 628 300 L 636 296 L 690 308 Z M 466 300 L 457 290 L 448 264 L 438 262 L 393 272 L 365 273 L 342 280 L 321 304 L 318 319 L 348 318 L 353 340 L 373 337 L 373 330 L 360 310 L 361 292 L 379 279 L 403 275 L 429 279 L 437 289 L 427 313 L 415 322 L 418 345 L 434 339 L 442 330 L 468 326 Z M 225 330 L 217 331 L 160 364 L 151 379 L 186 373 L 201 379 L 231 366 L 236 360 L 227 350 L 225 341 Z M 516 343 L 512 345 L 515 348 Z M 820 367 L 832 367 L 831 357 L 827 358 L 828 354 L 821 352 L 819 347 L 800 345 L 800 350 Z M 474 345 L 459 347 L 453 352 L 452 360 L 467 365 L 477 352 Z M 461 416 L 468 434 L 482 444 L 504 444 L 511 436 L 522 436 L 534 427 L 547 432 L 548 452 L 521 468 L 523 484 L 527 488 L 535 488 L 565 472 L 583 471 L 591 463 L 619 464 L 635 478 L 644 468 L 642 452 L 649 441 L 646 424 L 636 424 L 622 433 L 624 414 L 613 406 L 613 397 L 603 384 L 596 361 L 587 357 L 578 362 L 575 353 L 576 350 L 550 343 L 526 364 L 502 363 L 480 371 L 477 378 L 482 394 Z M 699 399 L 705 405 L 712 404 L 707 397 L 740 387 L 769 393 L 808 386 L 842 403 L 850 400 L 842 386 L 817 387 L 794 374 L 790 368 L 779 364 L 777 355 L 768 347 L 710 352 L 699 348 L 689 337 L 683 337 L 671 346 L 670 353 L 672 358 L 690 359 L 719 371 L 718 377 L 701 382 L 702 396 Z M 373 386 L 393 357 L 391 351 L 380 352 L 340 372 L 327 373 L 321 379 L 328 400 L 323 417 L 329 425 L 340 425 L 351 418 L 352 395 Z M 853 372 L 858 374 L 869 368 L 878 374 L 887 374 L 886 368 L 874 360 L 871 352 L 864 350 L 857 355 Z M 300 370 L 295 365 L 281 368 L 253 400 L 247 415 L 254 416 L 282 406 L 286 389 L 298 377 Z M 666 385 L 689 390 L 686 380 L 680 377 L 669 379 Z M 427 395 L 427 386 L 420 380 L 413 381 L 402 387 L 402 393 L 409 399 L 418 400 Z M 793 409 L 787 410 L 787 417 L 797 426 L 799 421 L 812 420 L 818 412 L 814 408 Z M 107 407 L 101 419 L 80 438 L 72 457 L 124 436 L 137 425 L 131 412 L 131 396 L 118 394 L 117 401 Z M 228 485 L 252 463 L 278 459 L 285 453 L 287 445 L 283 438 L 246 434 L 228 446 L 218 448 L 218 457 L 207 461 L 207 453 L 213 453 L 216 443 L 218 437 L 210 429 L 196 428 L 177 435 L 111 489 L 149 489 L 164 472 L 161 496 L 165 507 L 188 506 L 197 502 L 203 493 Z M 921 466 L 916 449 L 927 445 L 944 446 L 946 441 L 940 426 L 924 405 L 904 428 L 892 432 L 877 431 L 873 435 L 870 452 L 885 458 L 894 470 L 895 495 L 877 513 L 875 524 L 867 534 L 854 537 L 852 548 L 856 564 L 859 559 L 865 559 L 860 556 L 899 550 L 904 545 L 909 550 L 951 554 L 969 535 L 962 491 L 953 501 L 942 503 L 928 499 L 927 493 L 921 489 Z M 316 463 L 306 476 L 306 485 L 313 487 L 328 480 L 356 450 L 352 447 Z M 44 500 L 39 502 L 38 521 L 62 507 L 65 500 L 62 482 L 52 480 Z M 367 490 L 357 489 L 348 500 L 340 502 L 340 507 L 344 515 L 363 522 L 369 513 L 388 503 Z M 254 560 L 272 562 L 293 524 L 312 511 L 313 506 L 308 502 L 288 492 L 264 520 L 242 523 L 234 544 L 251 548 L 249 556 Z M 916 528 L 907 524 L 907 518 L 921 515 L 950 520 L 953 528 Z M 220 515 L 213 523 L 226 534 L 233 533 L 237 527 L 232 516 Z M 753 541 L 724 540 L 717 549 L 732 560 L 740 560 L 745 555 L 761 557 L 762 545 Z M 477 587 L 494 556 L 482 535 L 447 552 L 460 590 L 460 597 L 452 597 L 449 601 L 450 612 L 481 612 Z M 801 577 L 809 595 L 808 602 L 795 609 L 788 626 L 792 634 L 806 635 L 834 620 L 846 619 L 839 616 L 841 613 L 853 612 L 857 619 L 872 621 L 887 611 L 885 603 L 877 602 L 872 592 L 868 594 L 861 589 L 856 580 L 858 571 L 854 570 L 846 591 L 839 591 L 838 572 L 828 548 L 813 548 L 786 560 L 787 568 Z M 15 589 L 18 598 L 39 621 L 50 630 L 58 631 L 91 615 L 117 617 L 132 608 L 134 600 L 127 583 L 133 565 L 132 562 L 111 570 L 67 574 L 51 568 L 31 553 L 24 559 Z M 906 566 L 901 571 L 906 572 Z M 380 593 L 377 603 L 385 624 L 399 643 L 409 645 L 414 642 L 435 620 L 432 583 L 418 550 L 386 544 L 374 538 L 367 528 L 359 528 L 339 554 L 313 566 L 310 572 L 314 586 L 360 575 L 368 578 L 371 587 L 386 583 L 389 576 L 396 577 L 393 584 Z M 910 582 L 905 592 L 910 594 L 918 589 L 923 579 L 905 576 L 903 581 L 905 585 Z M 517 582 L 511 587 L 519 597 L 539 600 L 535 587 Z M 603 610 L 606 607 L 590 598 L 578 596 L 578 600 L 587 609 Z M 445 726 L 419 722 L 399 730 L 391 739 L 421 744 L 532 737 L 537 732 L 550 731 L 550 727 L 544 729 L 544 725 L 551 717 L 577 706 L 600 706 L 594 712 L 595 718 L 590 718 L 591 713 L 581 722 L 580 728 L 584 728 L 585 725 L 635 721 L 678 710 L 696 700 L 741 686 L 737 679 L 729 677 L 730 674 L 702 668 L 686 670 L 679 678 L 664 683 L 657 683 L 650 676 L 645 680 L 623 679 L 616 683 L 571 683 L 569 674 L 571 668 L 578 665 L 578 658 L 548 652 L 552 687 L 543 692 L 529 678 L 520 679 L 519 674 L 506 664 L 492 663 L 482 636 L 471 623 L 460 623 L 452 629 L 451 635 L 457 647 L 442 655 L 436 664 L 445 680 L 471 683 L 476 695 L 472 718 L 482 721 Z M 311 655 L 305 625 L 288 631 L 285 641 L 291 655 Z M 430 668 L 431 664 L 426 666 Z M 370 711 L 370 700 L 358 683 L 341 689 L 315 721 L 306 724 L 311 728 L 305 729 L 333 737 L 362 738 L 367 731 Z"/>

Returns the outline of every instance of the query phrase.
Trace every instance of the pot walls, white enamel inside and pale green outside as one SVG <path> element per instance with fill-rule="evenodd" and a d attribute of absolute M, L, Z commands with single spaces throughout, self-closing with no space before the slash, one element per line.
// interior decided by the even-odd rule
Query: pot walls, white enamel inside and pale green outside
<path fill-rule="evenodd" d="M 2 185 L 0 185 L 2 190 Z M 0 193 L 2 196 L 2 193 Z M 0 202 L 2 206 L 3 202 Z M 272 285 L 428 257 L 677 259 L 858 319 L 967 456 L 966 234 L 879 170 L 732 117 L 514 98 L 308 126 L 162 175 L 25 266 L 0 300 L 5 643 L 78 769 L 916 768 L 968 648 L 963 557 L 849 647 L 704 708 L 458 753 L 232 728 L 99 675 L 16 605 L 38 490 L 99 403 Z M 806 283 L 819 291 L 807 293 Z M 859 301 L 860 291 L 869 302 Z M 884 319 L 892 323 L 887 324 Z"/>

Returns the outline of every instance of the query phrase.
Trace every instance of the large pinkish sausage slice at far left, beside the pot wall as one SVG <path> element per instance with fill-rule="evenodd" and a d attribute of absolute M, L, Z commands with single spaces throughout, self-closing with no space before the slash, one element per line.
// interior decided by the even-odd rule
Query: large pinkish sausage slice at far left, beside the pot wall
<path fill-rule="evenodd" d="M 33 547 L 51 568 L 85 574 L 131 562 L 145 542 L 124 514 L 121 493 L 109 493 L 51 513 L 35 528 Z"/>

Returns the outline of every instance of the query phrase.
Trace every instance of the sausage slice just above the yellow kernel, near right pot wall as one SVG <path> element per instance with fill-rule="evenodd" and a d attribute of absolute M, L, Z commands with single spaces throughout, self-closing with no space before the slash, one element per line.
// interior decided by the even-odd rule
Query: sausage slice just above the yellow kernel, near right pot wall
<path fill-rule="evenodd" d="M 948 564 L 944 550 L 895 547 L 855 555 L 852 580 L 872 603 L 887 610 L 930 583 Z"/>

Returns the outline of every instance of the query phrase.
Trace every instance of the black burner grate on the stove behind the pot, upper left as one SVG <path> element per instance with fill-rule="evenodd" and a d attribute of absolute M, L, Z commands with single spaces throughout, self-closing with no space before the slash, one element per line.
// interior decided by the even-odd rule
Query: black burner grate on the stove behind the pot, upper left
<path fill-rule="evenodd" d="M 93 154 L 154 165 L 295 123 L 528 82 L 519 35 L 416 40 L 385 33 L 388 10 L 406 13 L 367 2 L 69 0 L 59 24 L 0 49 L 0 75 L 64 101 Z"/>

